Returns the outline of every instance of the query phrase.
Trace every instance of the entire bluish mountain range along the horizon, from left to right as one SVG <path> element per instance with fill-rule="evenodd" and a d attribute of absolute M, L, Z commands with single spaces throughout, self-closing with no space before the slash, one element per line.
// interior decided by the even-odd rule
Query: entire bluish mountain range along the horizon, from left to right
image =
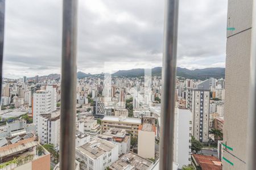
<path fill-rule="evenodd" d="M 152 76 L 162 75 L 162 67 L 155 67 L 151 70 Z M 88 76 L 102 76 L 102 74 L 86 74 L 81 71 L 77 72 L 77 78 L 84 78 Z M 112 76 L 126 76 L 126 77 L 139 77 L 144 76 L 144 69 L 131 69 L 131 70 L 119 70 L 112 74 Z M 189 70 L 181 67 L 177 67 L 177 76 L 181 76 L 188 79 L 200 79 L 205 80 L 210 77 L 213 78 L 225 78 L 225 68 L 215 67 L 206 69 Z M 34 79 L 35 77 L 28 78 Z M 40 76 L 40 79 L 59 79 L 60 74 L 49 74 Z"/>

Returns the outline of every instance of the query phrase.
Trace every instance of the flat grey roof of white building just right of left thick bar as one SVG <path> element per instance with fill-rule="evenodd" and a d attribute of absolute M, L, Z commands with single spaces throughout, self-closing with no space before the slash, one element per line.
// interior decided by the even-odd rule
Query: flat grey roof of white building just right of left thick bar
<path fill-rule="evenodd" d="M 77 147 L 76 149 L 80 150 L 92 159 L 97 159 L 99 156 L 105 154 L 105 152 L 111 151 L 114 147 L 117 147 L 117 145 L 96 138 L 93 141 L 86 143 L 85 145 Z"/>

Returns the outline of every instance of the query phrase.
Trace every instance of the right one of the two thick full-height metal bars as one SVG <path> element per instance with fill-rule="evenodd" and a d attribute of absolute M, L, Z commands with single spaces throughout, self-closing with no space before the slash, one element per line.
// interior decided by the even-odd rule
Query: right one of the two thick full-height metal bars
<path fill-rule="evenodd" d="M 179 0 L 166 0 L 162 70 L 162 114 L 160 125 L 160 169 L 171 169 L 174 160 L 174 112 Z"/>

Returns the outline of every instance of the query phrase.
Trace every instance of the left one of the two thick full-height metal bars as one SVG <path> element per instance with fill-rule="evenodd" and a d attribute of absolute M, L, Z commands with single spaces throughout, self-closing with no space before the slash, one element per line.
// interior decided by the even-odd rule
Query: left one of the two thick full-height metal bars
<path fill-rule="evenodd" d="M 77 0 L 63 0 L 60 169 L 75 169 Z"/>

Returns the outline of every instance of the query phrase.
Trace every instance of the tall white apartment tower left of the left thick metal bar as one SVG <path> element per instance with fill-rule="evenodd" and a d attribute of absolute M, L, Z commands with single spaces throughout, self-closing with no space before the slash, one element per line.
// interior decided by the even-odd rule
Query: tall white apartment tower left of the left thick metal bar
<path fill-rule="evenodd" d="M 56 111 L 56 90 L 52 86 L 47 86 L 46 89 L 36 91 L 33 97 L 32 115 L 36 132 L 38 131 L 39 115 Z"/>

